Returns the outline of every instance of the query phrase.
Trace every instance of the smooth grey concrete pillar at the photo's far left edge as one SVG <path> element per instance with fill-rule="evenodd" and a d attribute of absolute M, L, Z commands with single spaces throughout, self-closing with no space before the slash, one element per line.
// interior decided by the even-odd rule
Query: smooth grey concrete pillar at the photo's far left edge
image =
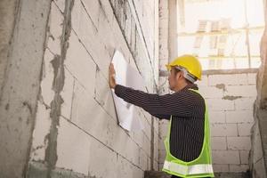
<path fill-rule="evenodd" d="M 24 177 L 50 1 L 0 2 L 0 177 Z"/>

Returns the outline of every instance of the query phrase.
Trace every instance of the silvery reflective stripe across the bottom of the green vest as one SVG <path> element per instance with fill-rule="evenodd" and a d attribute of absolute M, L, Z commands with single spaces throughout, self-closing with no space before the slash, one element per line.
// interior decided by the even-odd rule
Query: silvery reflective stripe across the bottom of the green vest
<path fill-rule="evenodd" d="M 163 168 L 170 170 L 177 174 L 213 174 L 213 166 L 208 164 L 182 166 L 174 162 L 165 161 Z"/>

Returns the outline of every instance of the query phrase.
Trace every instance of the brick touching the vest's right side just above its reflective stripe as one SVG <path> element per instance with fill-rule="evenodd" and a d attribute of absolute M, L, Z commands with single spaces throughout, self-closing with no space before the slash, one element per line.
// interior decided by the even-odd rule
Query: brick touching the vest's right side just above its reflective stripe
<path fill-rule="evenodd" d="M 214 164 L 239 164 L 239 150 L 213 150 Z"/>

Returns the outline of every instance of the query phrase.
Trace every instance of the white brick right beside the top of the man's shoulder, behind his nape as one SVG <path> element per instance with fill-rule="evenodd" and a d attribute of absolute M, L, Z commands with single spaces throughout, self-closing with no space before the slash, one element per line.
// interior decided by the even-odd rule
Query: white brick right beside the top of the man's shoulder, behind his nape
<path fill-rule="evenodd" d="M 199 92 L 204 98 L 223 98 L 223 89 L 214 86 L 199 86 Z"/>

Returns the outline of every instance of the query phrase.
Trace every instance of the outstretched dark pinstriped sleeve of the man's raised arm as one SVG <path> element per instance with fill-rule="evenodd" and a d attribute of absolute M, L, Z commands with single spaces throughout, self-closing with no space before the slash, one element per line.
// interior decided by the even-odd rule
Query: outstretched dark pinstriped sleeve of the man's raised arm
<path fill-rule="evenodd" d="M 116 85 L 115 93 L 123 100 L 145 109 L 151 115 L 166 119 L 171 115 L 191 117 L 196 98 L 193 92 L 158 95 L 144 93 L 123 85 Z"/>

